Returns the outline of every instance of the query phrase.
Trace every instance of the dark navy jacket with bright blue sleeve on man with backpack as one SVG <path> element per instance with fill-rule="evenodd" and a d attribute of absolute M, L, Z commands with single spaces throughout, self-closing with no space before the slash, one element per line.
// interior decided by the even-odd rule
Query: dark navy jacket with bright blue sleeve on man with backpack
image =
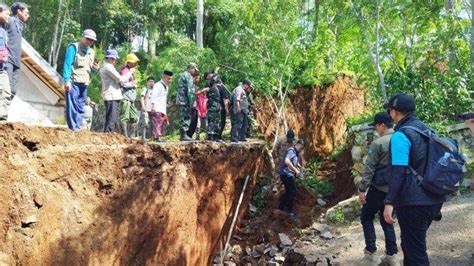
<path fill-rule="evenodd" d="M 390 167 L 392 178 L 386 203 L 395 206 L 437 205 L 445 201 L 440 197 L 425 191 L 417 178 L 408 171 L 408 165 L 413 167 L 421 176 L 425 173 L 428 141 L 405 126 L 413 126 L 421 130 L 431 130 L 414 115 L 407 115 L 395 127 L 395 134 L 390 141 Z"/>

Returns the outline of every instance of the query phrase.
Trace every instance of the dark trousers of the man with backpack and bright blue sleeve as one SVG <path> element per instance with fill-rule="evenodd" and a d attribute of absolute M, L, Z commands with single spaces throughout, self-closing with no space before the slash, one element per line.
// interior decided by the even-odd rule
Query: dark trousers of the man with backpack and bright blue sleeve
<path fill-rule="evenodd" d="M 426 232 L 440 209 L 441 205 L 396 208 L 404 265 L 430 265 L 426 252 Z"/>

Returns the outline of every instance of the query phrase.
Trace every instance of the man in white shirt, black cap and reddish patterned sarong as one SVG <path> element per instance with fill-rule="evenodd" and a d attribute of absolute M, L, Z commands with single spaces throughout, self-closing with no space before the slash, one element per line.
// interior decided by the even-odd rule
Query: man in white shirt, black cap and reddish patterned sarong
<path fill-rule="evenodd" d="M 166 102 L 168 97 L 168 86 L 173 81 L 173 72 L 165 70 L 161 80 L 153 86 L 150 99 L 146 101 L 146 108 L 150 116 L 152 135 L 154 141 L 161 141 L 163 125 L 169 124 L 166 115 Z"/>

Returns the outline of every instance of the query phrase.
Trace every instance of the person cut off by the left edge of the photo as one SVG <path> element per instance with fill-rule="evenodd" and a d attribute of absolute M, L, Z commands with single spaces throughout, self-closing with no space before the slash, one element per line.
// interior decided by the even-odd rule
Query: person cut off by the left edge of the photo
<path fill-rule="evenodd" d="M 10 16 L 10 10 L 5 4 L 0 4 L 0 23 L 5 25 Z M 0 121 L 8 119 L 8 108 L 12 97 L 10 81 L 6 70 L 8 63 L 8 34 L 4 27 L 0 27 Z"/>

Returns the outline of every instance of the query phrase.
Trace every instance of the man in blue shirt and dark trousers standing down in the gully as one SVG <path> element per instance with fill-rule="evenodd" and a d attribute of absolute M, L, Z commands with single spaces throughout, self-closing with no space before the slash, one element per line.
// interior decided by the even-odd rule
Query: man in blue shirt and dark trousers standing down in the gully
<path fill-rule="evenodd" d="M 301 175 L 301 165 L 298 155 L 304 148 L 304 141 L 298 140 L 293 147 L 286 150 L 283 162 L 280 164 L 280 178 L 285 185 L 285 194 L 280 199 L 278 208 L 288 213 L 292 218 L 298 218 L 293 212 L 293 202 L 296 196 L 296 177 Z"/>

